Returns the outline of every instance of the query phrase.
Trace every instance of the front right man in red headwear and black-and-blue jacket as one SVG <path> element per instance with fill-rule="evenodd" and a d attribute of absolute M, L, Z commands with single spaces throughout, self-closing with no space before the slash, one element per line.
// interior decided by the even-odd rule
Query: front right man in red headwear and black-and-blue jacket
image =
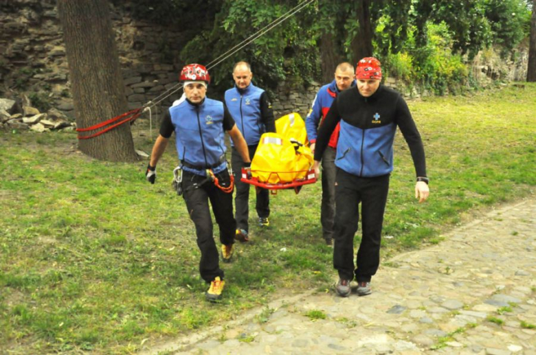
<path fill-rule="evenodd" d="M 320 126 L 315 147 L 315 174 L 329 137 L 340 126 L 335 179 L 335 244 L 333 266 L 339 273 L 335 290 L 350 295 L 357 281 L 357 295 L 369 295 L 370 279 L 379 266 L 381 227 L 393 170 L 393 141 L 397 126 L 410 147 L 416 171 L 415 197 L 420 203 L 429 195 L 425 152 L 421 135 L 401 95 L 383 87 L 381 65 L 376 58 L 357 63 L 356 88 L 340 93 Z M 353 261 L 353 239 L 361 203 L 362 237 Z M 357 266 L 357 268 L 356 268 Z"/>

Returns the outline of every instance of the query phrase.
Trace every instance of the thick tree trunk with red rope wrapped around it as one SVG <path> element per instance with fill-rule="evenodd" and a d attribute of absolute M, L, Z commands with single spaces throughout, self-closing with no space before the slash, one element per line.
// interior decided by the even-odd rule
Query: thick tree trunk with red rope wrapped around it
<path fill-rule="evenodd" d="M 71 81 L 76 126 L 87 128 L 127 111 L 118 50 L 107 0 L 58 0 L 58 14 Z M 98 132 L 87 132 L 91 135 Z M 78 148 L 105 161 L 137 159 L 129 123 L 91 139 Z"/>

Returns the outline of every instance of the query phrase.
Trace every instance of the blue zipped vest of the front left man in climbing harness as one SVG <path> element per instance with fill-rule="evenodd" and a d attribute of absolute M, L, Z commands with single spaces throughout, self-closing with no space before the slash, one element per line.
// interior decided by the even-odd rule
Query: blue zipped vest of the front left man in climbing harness
<path fill-rule="evenodd" d="M 184 100 L 169 109 L 175 127 L 177 153 L 183 169 L 204 175 L 205 169 L 214 173 L 225 170 L 225 132 L 223 102 L 205 98 L 199 105 Z M 223 161 L 222 161 L 223 160 Z"/>

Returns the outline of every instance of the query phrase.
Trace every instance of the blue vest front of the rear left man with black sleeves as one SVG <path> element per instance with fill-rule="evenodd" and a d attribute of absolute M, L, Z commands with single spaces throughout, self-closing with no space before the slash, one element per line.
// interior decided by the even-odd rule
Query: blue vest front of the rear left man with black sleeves
<path fill-rule="evenodd" d="M 265 133 L 260 113 L 260 95 L 264 92 L 253 83 L 249 83 L 243 90 L 238 90 L 235 86 L 225 91 L 225 105 L 248 146 L 256 146 L 260 136 Z M 233 142 L 231 144 L 234 146 Z"/>

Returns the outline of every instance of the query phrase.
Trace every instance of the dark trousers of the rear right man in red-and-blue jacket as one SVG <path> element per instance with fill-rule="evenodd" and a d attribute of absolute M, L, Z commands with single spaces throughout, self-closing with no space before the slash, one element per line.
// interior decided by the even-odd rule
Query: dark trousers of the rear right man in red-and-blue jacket
<path fill-rule="evenodd" d="M 320 209 L 320 222 L 322 223 L 322 237 L 333 238 L 335 222 L 335 155 L 337 150 L 327 147 L 322 155 L 322 207 Z"/>

